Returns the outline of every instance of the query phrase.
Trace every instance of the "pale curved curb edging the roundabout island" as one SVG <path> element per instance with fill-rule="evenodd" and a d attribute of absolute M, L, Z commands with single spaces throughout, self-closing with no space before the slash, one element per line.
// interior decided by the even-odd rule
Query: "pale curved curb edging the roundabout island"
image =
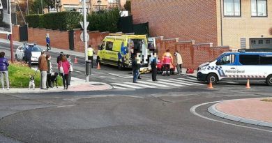
<path fill-rule="evenodd" d="M 228 119 L 228 120 L 231 120 L 231 121 L 237 121 L 237 122 L 241 122 L 241 123 L 248 123 L 248 124 L 252 124 L 252 125 L 272 128 L 272 123 L 269 123 L 269 122 L 258 121 L 258 120 L 253 120 L 253 119 L 245 119 L 245 118 L 240 117 L 240 116 L 234 116 L 234 115 L 230 115 L 230 114 L 225 114 L 224 112 L 220 112 L 220 111 L 218 111 L 216 109 L 216 105 L 218 105 L 218 104 L 219 103 L 211 105 L 208 108 L 208 112 L 215 115 L 215 116 L 219 116 L 222 119 Z"/>

